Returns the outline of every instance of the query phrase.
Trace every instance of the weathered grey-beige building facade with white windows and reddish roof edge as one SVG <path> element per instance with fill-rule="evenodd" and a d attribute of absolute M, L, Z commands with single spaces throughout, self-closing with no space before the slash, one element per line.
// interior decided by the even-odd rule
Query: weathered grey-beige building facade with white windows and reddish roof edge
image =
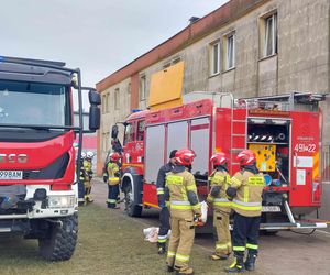
<path fill-rule="evenodd" d="M 110 148 L 111 127 L 133 109 L 147 107 L 152 74 L 180 61 L 183 94 L 230 91 L 242 98 L 329 92 L 329 0 L 231 0 L 100 80 L 98 162 Z M 321 105 L 329 150 L 330 98 Z"/>

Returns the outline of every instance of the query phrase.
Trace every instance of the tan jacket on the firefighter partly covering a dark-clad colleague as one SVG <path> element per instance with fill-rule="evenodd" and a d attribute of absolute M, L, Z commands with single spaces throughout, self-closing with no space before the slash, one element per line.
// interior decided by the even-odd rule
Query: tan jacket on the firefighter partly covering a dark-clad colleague
<path fill-rule="evenodd" d="M 167 196 L 166 196 L 167 194 Z M 176 165 L 166 176 L 165 196 L 173 217 L 190 219 L 200 216 L 200 204 L 194 175 Z"/>

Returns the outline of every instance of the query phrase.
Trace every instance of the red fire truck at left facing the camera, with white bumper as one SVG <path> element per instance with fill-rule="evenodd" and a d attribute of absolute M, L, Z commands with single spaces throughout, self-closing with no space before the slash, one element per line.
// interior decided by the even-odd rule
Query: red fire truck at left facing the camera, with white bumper
<path fill-rule="evenodd" d="M 89 129 L 96 131 L 100 96 L 81 87 L 79 69 L 61 62 L 0 57 L 0 232 L 37 239 L 41 255 L 52 261 L 70 258 L 77 241 L 82 90 L 89 90 Z"/>

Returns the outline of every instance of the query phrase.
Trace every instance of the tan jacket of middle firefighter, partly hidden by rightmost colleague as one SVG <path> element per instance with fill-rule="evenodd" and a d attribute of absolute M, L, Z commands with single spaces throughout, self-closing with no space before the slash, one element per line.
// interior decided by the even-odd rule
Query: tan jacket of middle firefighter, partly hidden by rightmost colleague
<path fill-rule="evenodd" d="M 211 190 L 207 200 L 213 205 L 215 210 L 229 213 L 231 201 L 228 199 L 226 190 L 230 185 L 230 176 L 226 169 L 216 169 L 209 177 Z"/>

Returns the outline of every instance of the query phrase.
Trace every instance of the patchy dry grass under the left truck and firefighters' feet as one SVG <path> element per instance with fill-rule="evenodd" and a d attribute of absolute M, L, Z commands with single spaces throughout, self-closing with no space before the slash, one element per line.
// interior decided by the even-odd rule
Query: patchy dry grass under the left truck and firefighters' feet
<path fill-rule="evenodd" d="M 0 274 L 169 274 L 156 244 L 143 240 L 143 224 L 128 217 L 89 205 L 79 211 L 79 239 L 66 262 L 40 257 L 37 242 L 20 237 L 0 237 Z M 221 274 L 229 262 L 212 262 L 195 246 L 191 265 L 196 274 Z"/>

